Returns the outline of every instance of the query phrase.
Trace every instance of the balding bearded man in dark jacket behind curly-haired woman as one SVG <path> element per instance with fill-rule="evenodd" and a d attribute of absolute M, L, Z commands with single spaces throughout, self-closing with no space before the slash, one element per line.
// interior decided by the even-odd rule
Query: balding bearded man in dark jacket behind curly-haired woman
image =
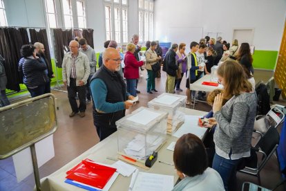
<path fill-rule="evenodd" d="M 42 62 L 46 64 L 46 67 L 47 67 L 47 69 L 44 71 L 44 75 L 47 75 L 49 80 L 45 84 L 44 93 L 50 93 L 50 81 L 51 81 L 50 79 L 55 78 L 55 75 L 53 73 L 52 64 L 50 64 L 50 62 L 48 62 L 48 60 L 46 59 L 44 44 L 41 44 L 41 42 L 35 42 L 34 46 L 36 48 L 35 52 L 37 56 Z"/>

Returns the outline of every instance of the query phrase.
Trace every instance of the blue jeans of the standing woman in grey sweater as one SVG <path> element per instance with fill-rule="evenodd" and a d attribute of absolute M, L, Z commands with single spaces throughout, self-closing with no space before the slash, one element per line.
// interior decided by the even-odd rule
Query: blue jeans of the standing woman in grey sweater
<path fill-rule="evenodd" d="M 213 169 L 222 177 L 225 190 L 236 190 L 236 167 L 240 159 L 231 160 L 218 154 L 213 157 Z"/>

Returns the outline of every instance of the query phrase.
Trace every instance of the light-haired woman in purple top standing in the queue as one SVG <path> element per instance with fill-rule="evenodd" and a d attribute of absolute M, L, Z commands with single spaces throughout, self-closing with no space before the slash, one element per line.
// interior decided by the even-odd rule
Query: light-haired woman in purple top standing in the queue
<path fill-rule="evenodd" d="M 179 45 L 178 51 L 176 52 L 176 57 L 175 59 L 178 62 L 178 79 L 175 80 L 175 90 L 176 91 L 182 91 L 182 89 L 180 89 L 180 84 L 182 82 L 182 77 L 184 76 L 184 73 L 186 73 L 187 71 L 187 57 L 186 57 L 186 53 L 184 53 L 184 51 L 186 50 L 186 44 L 181 43 Z"/>

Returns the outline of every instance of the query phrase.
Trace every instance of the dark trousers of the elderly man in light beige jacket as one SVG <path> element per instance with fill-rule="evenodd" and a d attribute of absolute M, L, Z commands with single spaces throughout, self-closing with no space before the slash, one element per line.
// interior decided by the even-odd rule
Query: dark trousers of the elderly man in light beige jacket
<path fill-rule="evenodd" d="M 86 111 L 86 86 L 76 86 L 75 79 L 70 78 L 70 86 L 68 86 L 68 101 L 73 112 Z M 77 107 L 77 100 L 75 96 L 79 96 L 79 107 Z"/>

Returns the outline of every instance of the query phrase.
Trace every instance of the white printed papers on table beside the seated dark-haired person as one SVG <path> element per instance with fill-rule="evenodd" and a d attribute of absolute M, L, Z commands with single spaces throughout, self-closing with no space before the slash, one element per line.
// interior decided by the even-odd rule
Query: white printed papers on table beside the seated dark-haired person
<path fill-rule="evenodd" d="M 128 191 L 171 191 L 173 189 L 174 176 L 139 172 L 132 174 Z"/>

